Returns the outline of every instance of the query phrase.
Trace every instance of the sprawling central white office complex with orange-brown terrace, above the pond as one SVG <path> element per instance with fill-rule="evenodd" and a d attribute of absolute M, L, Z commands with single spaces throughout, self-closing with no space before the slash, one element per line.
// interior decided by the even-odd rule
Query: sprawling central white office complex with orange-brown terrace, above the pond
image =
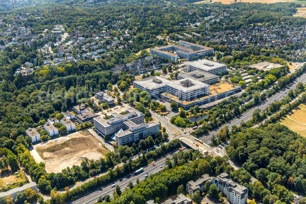
<path fill-rule="evenodd" d="M 210 85 L 218 82 L 218 73 L 226 72 L 226 65 L 206 59 L 186 63 L 187 73 L 178 75 L 178 80 L 153 76 L 133 81 L 133 86 L 149 92 L 151 96 L 174 101 L 182 108 L 202 105 L 229 96 L 241 90 L 240 86 L 211 93 Z M 209 85 L 210 84 L 210 85 Z M 223 82 L 223 84 L 225 84 Z"/>

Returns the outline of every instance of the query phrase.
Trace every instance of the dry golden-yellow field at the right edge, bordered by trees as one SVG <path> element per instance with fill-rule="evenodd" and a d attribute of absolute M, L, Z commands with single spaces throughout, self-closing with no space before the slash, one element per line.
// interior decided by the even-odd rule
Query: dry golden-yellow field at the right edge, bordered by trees
<path fill-rule="evenodd" d="M 287 126 L 290 130 L 306 137 L 306 105 L 300 104 L 291 114 L 282 118 L 279 123 Z"/>

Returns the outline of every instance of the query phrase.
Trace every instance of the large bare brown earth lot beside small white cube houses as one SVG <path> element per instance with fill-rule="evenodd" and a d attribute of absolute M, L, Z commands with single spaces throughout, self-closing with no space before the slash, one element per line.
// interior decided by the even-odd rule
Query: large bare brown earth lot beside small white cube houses
<path fill-rule="evenodd" d="M 80 165 L 84 157 L 98 160 L 108 152 L 109 150 L 87 131 L 34 145 L 34 149 L 31 150 L 36 162 L 46 163 L 48 173 L 57 173 L 66 167 Z"/>

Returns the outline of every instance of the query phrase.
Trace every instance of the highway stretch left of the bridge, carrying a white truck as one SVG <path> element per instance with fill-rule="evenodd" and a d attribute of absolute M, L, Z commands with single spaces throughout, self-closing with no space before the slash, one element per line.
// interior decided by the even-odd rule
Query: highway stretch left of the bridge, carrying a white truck
<path fill-rule="evenodd" d="M 187 151 L 188 148 L 184 149 L 183 151 Z M 178 151 L 177 151 L 178 152 Z M 177 153 L 176 152 L 176 153 Z M 172 155 L 170 154 L 167 154 L 166 157 L 168 158 L 172 158 Z M 122 178 L 122 181 L 120 181 L 119 179 L 117 181 L 115 181 L 115 185 L 119 185 L 120 188 L 121 188 L 121 191 L 124 191 L 125 188 L 127 187 L 127 184 L 132 181 L 133 184 L 135 185 L 136 184 L 136 179 L 138 178 L 139 181 L 143 181 L 145 179 L 145 175 L 148 173 L 149 175 L 150 174 L 154 174 L 156 172 L 159 172 L 161 171 L 162 169 L 165 168 L 165 160 L 166 160 L 166 157 L 162 157 L 161 159 L 157 160 L 154 162 L 154 164 L 156 166 L 152 166 L 152 164 L 144 167 L 144 171 L 141 172 L 139 175 L 137 176 L 131 176 L 130 178 L 125 178 L 123 177 Z M 162 166 L 162 168 L 160 167 Z M 82 198 L 79 198 L 78 200 L 76 201 L 73 201 L 73 202 L 70 202 L 70 203 L 73 203 L 73 204 L 92 204 L 94 202 L 96 202 L 98 200 L 99 197 L 102 197 L 103 195 L 110 195 L 110 198 L 113 197 L 113 191 L 115 190 L 115 187 L 111 187 L 112 183 L 103 187 L 103 189 L 98 189 L 94 192 L 92 192 L 91 194 L 88 194 Z"/>

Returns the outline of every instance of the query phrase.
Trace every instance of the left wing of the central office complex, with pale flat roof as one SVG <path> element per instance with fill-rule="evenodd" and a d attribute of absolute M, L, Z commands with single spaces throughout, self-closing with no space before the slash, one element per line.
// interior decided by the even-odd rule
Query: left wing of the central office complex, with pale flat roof
<path fill-rule="evenodd" d="M 165 91 L 167 83 L 171 83 L 171 81 L 163 77 L 154 76 L 133 81 L 133 87 L 149 92 L 150 96 L 156 96 Z"/>

